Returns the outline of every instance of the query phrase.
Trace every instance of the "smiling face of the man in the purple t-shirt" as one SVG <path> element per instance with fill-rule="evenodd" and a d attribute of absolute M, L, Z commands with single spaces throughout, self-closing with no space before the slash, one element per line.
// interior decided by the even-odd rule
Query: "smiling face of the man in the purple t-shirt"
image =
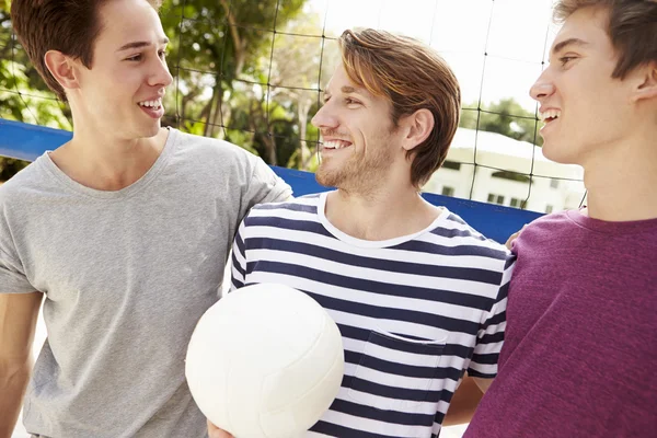
<path fill-rule="evenodd" d="M 585 164 L 631 132 L 631 84 L 612 78 L 618 58 L 607 23 L 603 9 L 583 8 L 568 16 L 550 67 L 531 89 L 545 122 L 543 153 L 551 160 Z"/>

